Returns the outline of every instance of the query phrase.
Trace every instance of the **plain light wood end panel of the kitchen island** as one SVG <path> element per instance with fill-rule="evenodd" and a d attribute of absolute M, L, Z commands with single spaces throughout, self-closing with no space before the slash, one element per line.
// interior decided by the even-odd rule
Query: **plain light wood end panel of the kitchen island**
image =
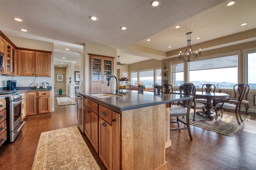
<path fill-rule="evenodd" d="M 165 111 L 166 104 L 122 111 L 122 170 L 167 169 Z"/>

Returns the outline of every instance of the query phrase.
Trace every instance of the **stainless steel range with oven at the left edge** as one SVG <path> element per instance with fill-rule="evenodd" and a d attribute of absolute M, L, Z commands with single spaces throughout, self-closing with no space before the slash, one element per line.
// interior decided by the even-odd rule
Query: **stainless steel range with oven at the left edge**
<path fill-rule="evenodd" d="M 7 90 L 0 92 L 0 95 L 9 97 L 9 102 L 6 100 L 6 107 L 8 107 L 7 112 L 9 112 L 7 113 L 7 121 L 9 123 L 10 142 L 13 142 L 14 139 L 18 136 L 22 126 L 25 123 L 25 121 L 22 121 L 22 101 L 25 99 L 22 98 L 24 93 L 21 92 L 24 92 L 24 90 Z"/>

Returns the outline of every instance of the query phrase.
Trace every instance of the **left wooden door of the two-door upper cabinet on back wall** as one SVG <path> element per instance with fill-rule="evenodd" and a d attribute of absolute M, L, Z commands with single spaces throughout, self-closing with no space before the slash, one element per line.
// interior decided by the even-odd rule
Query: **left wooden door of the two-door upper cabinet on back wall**
<path fill-rule="evenodd" d="M 18 50 L 18 75 L 35 75 L 35 52 Z"/>

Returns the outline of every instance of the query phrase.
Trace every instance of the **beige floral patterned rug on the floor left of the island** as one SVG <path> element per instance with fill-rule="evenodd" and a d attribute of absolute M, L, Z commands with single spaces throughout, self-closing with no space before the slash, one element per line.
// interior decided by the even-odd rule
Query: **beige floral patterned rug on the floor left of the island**
<path fill-rule="evenodd" d="M 100 170 L 76 126 L 41 133 L 32 170 Z"/>

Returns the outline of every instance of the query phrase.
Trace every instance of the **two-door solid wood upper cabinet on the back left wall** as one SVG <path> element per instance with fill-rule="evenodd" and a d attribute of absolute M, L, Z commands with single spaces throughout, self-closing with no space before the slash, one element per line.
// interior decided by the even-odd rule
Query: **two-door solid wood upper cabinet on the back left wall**
<path fill-rule="evenodd" d="M 50 76 L 51 52 L 18 50 L 19 76 Z"/>

